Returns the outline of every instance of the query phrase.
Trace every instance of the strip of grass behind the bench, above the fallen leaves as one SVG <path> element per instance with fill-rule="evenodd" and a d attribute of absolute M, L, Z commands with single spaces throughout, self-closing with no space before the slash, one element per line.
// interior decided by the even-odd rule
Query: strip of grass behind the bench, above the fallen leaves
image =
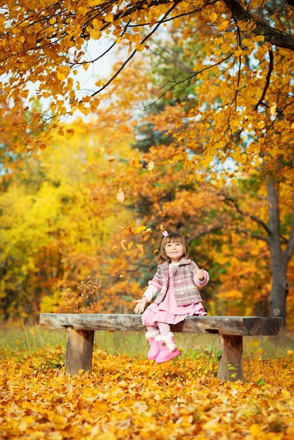
<path fill-rule="evenodd" d="M 217 335 L 175 334 L 178 347 L 186 356 L 193 356 L 200 351 L 215 353 L 219 351 Z M 244 355 L 280 358 L 287 350 L 294 350 L 294 335 L 281 334 L 277 337 L 244 337 Z M 34 352 L 46 347 L 60 345 L 65 350 L 65 330 L 44 330 L 39 325 L 24 323 L 0 325 L 0 351 L 16 353 Z M 129 354 L 131 357 L 146 356 L 148 342 L 144 332 L 95 332 L 95 347 L 110 354 Z"/>

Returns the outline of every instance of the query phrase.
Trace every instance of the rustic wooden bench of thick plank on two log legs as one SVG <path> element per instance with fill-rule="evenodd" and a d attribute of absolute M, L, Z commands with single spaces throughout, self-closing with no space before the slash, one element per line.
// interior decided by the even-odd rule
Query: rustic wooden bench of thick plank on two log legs
<path fill-rule="evenodd" d="M 133 314 L 41 313 L 39 318 L 42 328 L 67 330 L 65 369 L 71 375 L 91 370 L 95 330 L 146 332 L 141 316 Z M 283 318 L 259 316 L 188 316 L 171 330 L 217 334 L 222 353 L 217 377 L 234 381 L 243 380 L 243 336 L 278 335 L 282 323 Z"/>

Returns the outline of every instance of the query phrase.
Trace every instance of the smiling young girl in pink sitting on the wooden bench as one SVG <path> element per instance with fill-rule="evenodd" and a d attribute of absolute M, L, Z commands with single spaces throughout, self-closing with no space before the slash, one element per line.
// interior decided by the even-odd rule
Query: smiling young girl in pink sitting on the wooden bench
<path fill-rule="evenodd" d="M 198 287 L 207 285 L 209 275 L 188 257 L 188 244 L 180 233 L 163 233 L 159 266 L 141 299 L 135 302 L 135 313 L 142 313 L 148 302 L 157 297 L 142 315 L 146 338 L 150 344 L 148 359 L 162 363 L 179 356 L 170 324 L 186 316 L 206 315 Z"/>

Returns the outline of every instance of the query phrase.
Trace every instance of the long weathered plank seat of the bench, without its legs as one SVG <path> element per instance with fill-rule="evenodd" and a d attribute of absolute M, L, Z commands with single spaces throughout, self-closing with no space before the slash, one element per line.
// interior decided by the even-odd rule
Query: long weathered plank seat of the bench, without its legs
<path fill-rule="evenodd" d="M 124 313 L 41 313 L 44 328 L 75 330 L 146 331 L 141 315 Z M 260 316 L 187 316 L 185 321 L 172 325 L 173 332 L 219 333 L 220 335 L 258 336 L 278 335 L 283 318 Z"/>

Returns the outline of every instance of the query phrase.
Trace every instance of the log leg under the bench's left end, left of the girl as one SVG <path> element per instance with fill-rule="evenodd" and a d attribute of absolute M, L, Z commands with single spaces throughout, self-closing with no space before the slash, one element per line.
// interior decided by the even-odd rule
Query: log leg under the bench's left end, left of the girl
<path fill-rule="evenodd" d="M 75 330 L 71 326 L 66 330 L 65 370 L 70 375 L 79 370 L 91 371 L 94 330 Z"/>

